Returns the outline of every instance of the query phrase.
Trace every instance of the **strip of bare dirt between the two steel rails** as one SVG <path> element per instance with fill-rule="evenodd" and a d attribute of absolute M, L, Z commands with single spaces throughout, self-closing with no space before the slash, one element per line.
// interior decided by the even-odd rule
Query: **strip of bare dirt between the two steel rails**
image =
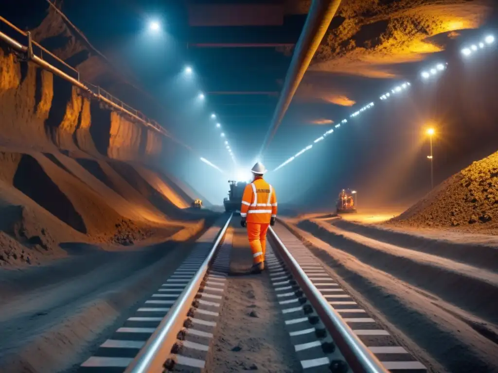
<path fill-rule="evenodd" d="M 267 271 L 246 275 L 252 264 L 247 234 L 234 229 L 231 274 L 208 373 L 301 372 Z M 252 315 L 252 316 L 251 316 Z"/>

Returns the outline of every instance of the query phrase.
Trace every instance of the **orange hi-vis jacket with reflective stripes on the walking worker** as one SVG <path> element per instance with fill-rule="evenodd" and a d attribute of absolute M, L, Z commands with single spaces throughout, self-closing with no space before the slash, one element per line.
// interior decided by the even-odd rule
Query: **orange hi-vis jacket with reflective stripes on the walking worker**
<path fill-rule="evenodd" d="M 244 189 L 241 216 L 248 223 L 268 224 L 271 217 L 277 215 L 277 197 L 275 190 L 258 177 Z"/>

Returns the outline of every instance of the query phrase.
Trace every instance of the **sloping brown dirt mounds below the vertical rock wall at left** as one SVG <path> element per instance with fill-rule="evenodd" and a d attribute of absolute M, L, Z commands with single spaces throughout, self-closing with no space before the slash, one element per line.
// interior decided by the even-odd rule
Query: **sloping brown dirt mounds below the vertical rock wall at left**
<path fill-rule="evenodd" d="M 128 246 L 152 235 L 168 237 L 184 227 L 152 206 L 147 197 L 150 189 L 155 189 L 145 181 L 141 187 L 146 194 L 140 195 L 123 179 L 108 177 L 110 173 L 98 163 L 81 163 L 106 183 L 62 154 L 0 152 L 0 232 L 5 234 L 1 239 L 8 248 L 2 254 L 3 262 L 18 264 L 21 254 L 26 257 L 26 250 L 32 248 L 43 255 L 64 255 L 60 243 Z M 107 184 L 134 190 L 134 201 Z"/>

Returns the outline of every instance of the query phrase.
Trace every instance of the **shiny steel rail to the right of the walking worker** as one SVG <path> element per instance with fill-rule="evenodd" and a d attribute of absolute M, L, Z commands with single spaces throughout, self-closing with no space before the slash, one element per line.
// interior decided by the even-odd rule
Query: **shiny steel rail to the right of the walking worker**
<path fill-rule="evenodd" d="M 322 293 L 308 278 L 301 266 L 289 253 L 283 242 L 278 238 L 273 228 L 268 229 L 270 238 L 276 243 L 281 257 L 294 279 L 297 281 L 306 297 L 316 310 L 330 335 L 341 350 L 346 361 L 355 373 L 388 373 L 382 363 L 370 352 L 358 336 L 346 324 L 341 315 L 329 305 Z"/>

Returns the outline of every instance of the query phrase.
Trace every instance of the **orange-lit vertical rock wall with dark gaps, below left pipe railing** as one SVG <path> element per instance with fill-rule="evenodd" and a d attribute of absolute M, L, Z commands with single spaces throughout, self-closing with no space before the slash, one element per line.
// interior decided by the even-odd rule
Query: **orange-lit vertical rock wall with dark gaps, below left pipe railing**
<path fill-rule="evenodd" d="M 0 146 L 154 163 L 165 138 L 0 44 Z"/>

